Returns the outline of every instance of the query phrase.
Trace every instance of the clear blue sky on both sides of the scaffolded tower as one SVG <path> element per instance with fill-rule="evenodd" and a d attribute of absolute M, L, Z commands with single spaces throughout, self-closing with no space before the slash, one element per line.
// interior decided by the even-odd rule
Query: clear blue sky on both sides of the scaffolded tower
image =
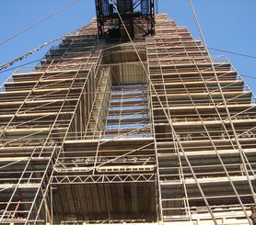
<path fill-rule="evenodd" d="M 74 0 L 1 0 L 0 42 L 73 2 Z M 187 26 L 193 37 L 200 36 L 188 0 L 158 0 L 158 2 L 159 12 L 167 13 L 170 18 L 177 21 L 178 25 Z M 193 0 L 192 2 L 208 47 L 256 56 L 255 0 Z M 92 17 L 95 17 L 94 0 L 80 0 L 64 12 L 0 45 L 0 65 L 44 42 L 87 24 Z M 52 45 L 11 67 L 40 60 L 50 47 Z M 239 73 L 256 78 L 256 59 L 219 51 L 211 51 L 211 53 L 225 54 Z M 12 73 L 12 71 L 3 73 L 4 71 L 0 73 L 0 84 Z M 245 76 L 244 79 L 256 93 L 256 80 Z"/>

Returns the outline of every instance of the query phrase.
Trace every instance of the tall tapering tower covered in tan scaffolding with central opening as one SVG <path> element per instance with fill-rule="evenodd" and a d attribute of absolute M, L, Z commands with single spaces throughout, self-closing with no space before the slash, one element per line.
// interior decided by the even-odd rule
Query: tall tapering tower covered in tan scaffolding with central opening
<path fill-rule="evenodd" d="M 0 96 L 1 223 L 252 224 L 255 96 L 166 15 L 132 43 L 95 19 Z"/>

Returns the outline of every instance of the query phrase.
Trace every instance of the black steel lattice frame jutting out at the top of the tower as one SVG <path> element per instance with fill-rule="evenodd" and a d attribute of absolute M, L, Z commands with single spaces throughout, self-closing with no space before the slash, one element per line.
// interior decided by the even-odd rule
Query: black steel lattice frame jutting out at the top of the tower
<path fill-rule="evenodd" d="M 127 38 L 127 31 L 133 38 L 155 34 L 155 0 L 95 0 L 95 5 L 99 38 Z"/>

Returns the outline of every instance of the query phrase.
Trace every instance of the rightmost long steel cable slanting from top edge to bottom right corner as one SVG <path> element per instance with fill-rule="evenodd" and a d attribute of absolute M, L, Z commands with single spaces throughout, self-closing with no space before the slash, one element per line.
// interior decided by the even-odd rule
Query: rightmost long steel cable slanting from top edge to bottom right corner
<path fill-rule="evenodd" d="M 192 5 L 192 0 L 189 0 L 189 3 L 190 3 L 190 6 L 191 6 L 191 8 L 192 8 L 192 14 L 193 14 L 193 17 L 194 17 L 194 19 L 195 19 L 195 21 L 196 21 L 196 25 L 197 25 L 197 27 L 198 27 L 198 29 L 199 29 L 201 38 L 202 38 L 202 40 L 203 40 L 204 47 L 205 47 L 205 51 L 209 54 L 209 50 L 208 50 L 208 48 L 207 48 L 206 41 L 205 41 L 205 39 L 204 39 L 203 30 L 202 30 L 202 28 L 201 28 L 201 25 L 200 25 L 200 23 L 199 23 L 198 17 L 197 17 L 197 15 L 196 15 L 196 12 L 195 12 L 194 7 L 193 7 L 193 5 Z M 226 102 L 226 98 L 225 98 L 225 96 L 224 96 L 224 94 L 223 94 L 222 87 L 221 87 L 221 85 L 220 85 L 219 82 L 218 82 L 219 80 L 218 80 L 217 74 L 216 74 L 216 72 L 215 72 L 215 65 L 214 65 L 214 62 L 213 62 L 212 58 L 209 58 L 209 59 L 210 59 L 212 68 L 213 68 L 214 73 L 215 73 L 215 79 L 216 79 L 216 82 L 217 82 L 217 84 L 218 84 L 218 88 L 219 88 L 220 95 L 221 95 L 221 97 L 222 97 L 222 99 L 223 99 L 223 103 L 224 103 L 224 106 L 225 106 L 226 111 L 227 111 L 227 118 L 228 118 L 228 120 L 229 120 L 229 122 L 230 122 L 231 129 L 232 129 L 232 131 L 233 131 L 233 133 L 234 133 L 235 141 L 236 141 L 236 143 L 237 143 L 237 145 L 238 145 L 240 158 L 241 158 L 242 164 L 244 165 L 245 174 L 246 174 L 246 177 L 247 177 L 249 186 L 250 186 L 251 197 L 252 197 L 254 203 L 256 204 L 255 193 L 254 193 L 254 190 L 253 190 L 253 186 L 252 186 L 252 184 L 251 184 L 251 182 L 250 182 L 250 175 L 249 175 L 249 173 L 248 173 L 247 165 L 246 165 L 246 163 L 245 163 L 245 159 L 244 159 L 244 155 L 243 155 L 243 149 L 241 148 L 241 145 L 240 145 L 240 143 L 239 143 L 239 140 L 238 140 L 238 137 L 237 137 L 237 133 L 236 133 L 236 129 L 235 129 L 234 124 L 233 124 L 233 122 L 232 122 L 232 118 L 231 118 L 231 116 L 230 116 L 230 112 L 229 112 L 229 109 L 228 109 L 228 107 L 227 107 L 227 102 Z M 248 219 L 249 223 L 252 224 L 252 222 L 251 222 L 251 220 L 250 220 L 250 217 L 249 217 L 247 214 L 246 214 L 245 216 L 246 216 L 246 218 Z"/>

